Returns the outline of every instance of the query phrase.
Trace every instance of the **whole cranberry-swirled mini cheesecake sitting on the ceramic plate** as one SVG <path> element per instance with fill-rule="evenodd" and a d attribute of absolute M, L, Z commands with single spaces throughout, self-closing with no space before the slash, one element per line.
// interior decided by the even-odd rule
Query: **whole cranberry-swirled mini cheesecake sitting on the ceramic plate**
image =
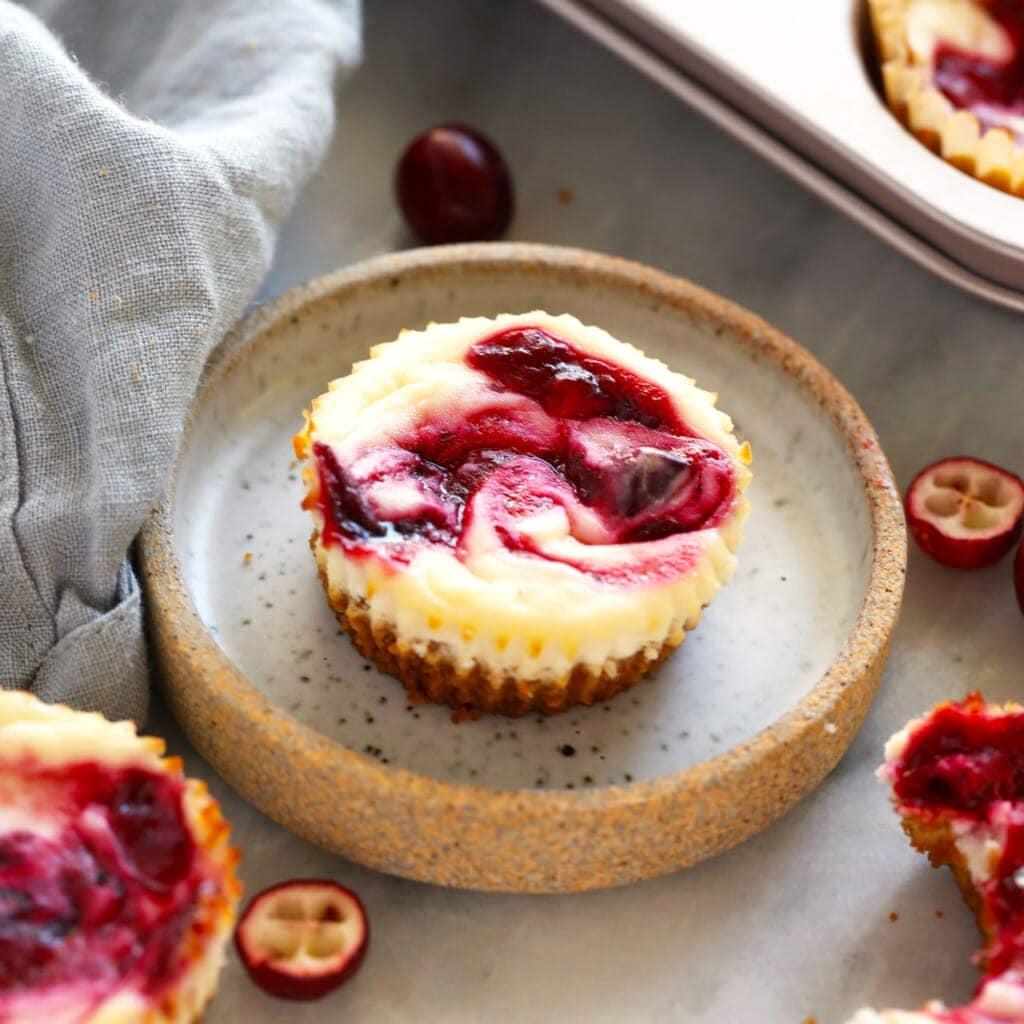
<path fill-rule="evenodd" d="M 460 715 L 633 685 L 732 572 L 748 512 L 750 450 L 714 395 L 543 312 L 378 345 L 295 450 L 339 622 Z"/>

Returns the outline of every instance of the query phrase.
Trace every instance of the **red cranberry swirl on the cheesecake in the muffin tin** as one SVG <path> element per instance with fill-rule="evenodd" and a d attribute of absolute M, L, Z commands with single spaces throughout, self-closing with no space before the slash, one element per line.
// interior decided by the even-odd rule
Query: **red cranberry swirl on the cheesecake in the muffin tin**
<path fill-rule="evenodd" d="M 986 9 L 1013 43 L 1010 60 L 995 62 L 943 42 L 933 56 L 936 86 L 954 106 L 980 108 L 982 122 L 986 106 L 1024 113 L 1024 4 L 989 0 Z"/>

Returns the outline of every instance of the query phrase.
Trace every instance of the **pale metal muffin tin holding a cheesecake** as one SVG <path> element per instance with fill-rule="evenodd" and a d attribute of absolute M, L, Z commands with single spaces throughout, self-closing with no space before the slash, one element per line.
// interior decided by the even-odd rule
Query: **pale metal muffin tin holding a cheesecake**
<path fill-rule="evenodd" d="M 541 0 L 940 278 L 1024 311 L 1024 200 L 906 132 L 858 0 Z"/>

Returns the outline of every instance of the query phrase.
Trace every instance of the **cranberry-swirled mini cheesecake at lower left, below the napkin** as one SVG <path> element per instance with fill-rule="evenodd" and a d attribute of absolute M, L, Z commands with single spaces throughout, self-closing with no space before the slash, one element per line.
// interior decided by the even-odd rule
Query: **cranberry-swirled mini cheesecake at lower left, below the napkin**
<path fill-rule="evenodd" d="M 202 782 L 127 722 L 0 691 L 0 1024 L 190 1024 L 238 855 Z"/>

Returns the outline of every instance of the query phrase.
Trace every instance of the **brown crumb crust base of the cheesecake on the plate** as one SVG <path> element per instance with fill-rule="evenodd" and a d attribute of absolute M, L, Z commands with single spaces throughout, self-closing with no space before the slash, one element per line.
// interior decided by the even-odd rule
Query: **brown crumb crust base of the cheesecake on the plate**
<path fill-rule="evenodd" d="M 381 672 L 394 676 L 406 687 L 410 701 L 447 705 L 457 722 L 476 718 L 481 712 L 507 718 L 521 718 L 530 712 L 556 715 L 573 705 L 589 707 L 607 700 L 635 686 L 679 646 L 670 640 L 656 651 L 639 650 L 630 657 L 609 662 L 600 671 L 577 665 L 567 679 L 553 683 L 518 679 L 508 673 L 499 675 L 479 664 L 467 671 L 456 664 L 446 644 L 430 641 L 426 653 L 419 654 L 399 641 L 390 624 L 375 623 L 365 601 L 332 590 L 319 557 L 318 538 L 314 529 L 309 546 L 316 556 L 321 583 L 355 649 Z"/>

